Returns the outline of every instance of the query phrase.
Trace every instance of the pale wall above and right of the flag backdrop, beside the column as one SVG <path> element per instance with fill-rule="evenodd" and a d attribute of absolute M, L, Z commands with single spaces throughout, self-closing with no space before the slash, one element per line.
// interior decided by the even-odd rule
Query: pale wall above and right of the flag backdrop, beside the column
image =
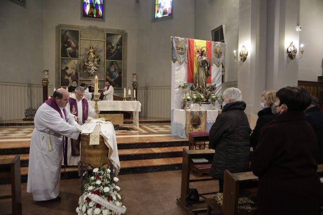
<path fill-rule="evenodd" d="M 238 48 L 239 0 L 195 0 L 194 39 L 212 40 L 211 30 L 226 25 L 225 82 L 236 81 L 238 66 L 234 62 L 233 50 Z M 240 49 L 241 47 L 239 47 Z"/>

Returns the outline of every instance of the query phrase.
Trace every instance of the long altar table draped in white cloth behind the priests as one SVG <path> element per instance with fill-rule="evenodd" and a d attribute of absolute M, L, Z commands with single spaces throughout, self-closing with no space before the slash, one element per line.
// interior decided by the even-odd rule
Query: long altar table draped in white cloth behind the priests
<path fill-rule="evenodd" d="M 94 108 L 94 101 L 88 101 L 88 103 Z M 97 102 L 97 107 L 103 111 L 133 111 L 133 124 L 137 128 L 139 127 L 141 104 L 138 101 L 99 101 Z"/>

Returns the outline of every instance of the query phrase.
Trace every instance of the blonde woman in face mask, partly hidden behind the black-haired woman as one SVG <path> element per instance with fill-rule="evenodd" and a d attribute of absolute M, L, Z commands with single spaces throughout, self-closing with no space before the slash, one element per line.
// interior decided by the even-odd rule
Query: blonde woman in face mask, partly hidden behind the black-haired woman
<path fill-rule="evenodd" d="M 267 125 L 270 121 L 272 121 L 275 118 L 275 115 L 272 113 L 271 109 L 271 106 L 275 103 L 275 101 L 275 90 L 264 91 L 261 94 L 260 107 L 262 108 L 262 110 L 258 112 L 257 123 L 254 127 L 253 132 L 250 135 L 250 146 L 253 147 L 254 150 L 258 142 L 260 130 L 263 126 Z"/>

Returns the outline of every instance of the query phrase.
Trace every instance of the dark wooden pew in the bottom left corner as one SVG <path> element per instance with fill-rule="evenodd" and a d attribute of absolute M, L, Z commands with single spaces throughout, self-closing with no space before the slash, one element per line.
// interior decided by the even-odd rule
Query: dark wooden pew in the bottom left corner
<path fill-rule="evenodd" d="M 20 155 L 14 158 L 0 159 L 0 178 L 11 179 L 11 195 L 0 196 L 0 199 L 12 199 L 12 214 L 22 214 L 22 193 L 20 176 Z"/>

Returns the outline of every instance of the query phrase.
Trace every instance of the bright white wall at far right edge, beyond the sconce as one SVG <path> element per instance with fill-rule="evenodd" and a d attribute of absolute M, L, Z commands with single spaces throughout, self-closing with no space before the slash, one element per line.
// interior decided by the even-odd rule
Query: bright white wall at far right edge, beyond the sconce
<path fill-rule="evenodd" d="M 323 75 L 323 0 L 300 0 L 300 25 L 305 52 L 299 60 L 299 80 L 317 81 Z"/>

